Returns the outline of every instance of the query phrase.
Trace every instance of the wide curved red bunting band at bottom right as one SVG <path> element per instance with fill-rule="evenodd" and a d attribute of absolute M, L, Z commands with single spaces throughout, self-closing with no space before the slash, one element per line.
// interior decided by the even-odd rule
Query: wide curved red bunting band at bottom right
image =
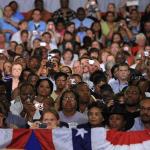
<path fill-rule="evenodd" d="M 129 132 L 109 130 L 106 139 L 113 145 L 138 144 L 150 140 L 150 130 Z"/>

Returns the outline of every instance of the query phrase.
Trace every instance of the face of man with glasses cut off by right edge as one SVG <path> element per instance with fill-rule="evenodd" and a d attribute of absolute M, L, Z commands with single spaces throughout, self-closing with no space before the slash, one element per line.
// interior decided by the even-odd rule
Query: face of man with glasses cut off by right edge
<path fill-rule="evenodd" d="M 140 117 L 143 123 L 150 123 L 150 100 L 146 99 L 140 103 Z"/>

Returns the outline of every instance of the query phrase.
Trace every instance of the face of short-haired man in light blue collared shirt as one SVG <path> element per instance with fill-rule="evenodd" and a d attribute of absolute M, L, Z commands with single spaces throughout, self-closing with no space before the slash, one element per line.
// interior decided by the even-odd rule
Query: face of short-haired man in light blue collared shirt
<path fill-rule="evenodd" d="M 128 66 L 119 66 L 118 69 L 118 78 L 120 80 L 127 80 L 129 77 L 129 68 Z"/>

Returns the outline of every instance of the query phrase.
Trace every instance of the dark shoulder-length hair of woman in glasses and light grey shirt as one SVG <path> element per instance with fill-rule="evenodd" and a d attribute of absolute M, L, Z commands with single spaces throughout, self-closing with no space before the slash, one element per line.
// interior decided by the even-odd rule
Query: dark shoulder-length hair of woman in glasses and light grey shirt
<path fill-rule="evenodd" d="M 61 111 L 63 108 L 62 108 L 62 102 L 63 102 L 63 98 L 65 96 L 66 93 L 73 93 L 74 96 L 75 96 L 75 100 L 76 100 L 76 111 L 79 111 L 79 96 L 76 92 L 74 92 L 73 90 L 66 90 L 63 92 L 63 94 L 61 95 L 60 97 L 60 106 L 59 106 L 59 110 Z"/>

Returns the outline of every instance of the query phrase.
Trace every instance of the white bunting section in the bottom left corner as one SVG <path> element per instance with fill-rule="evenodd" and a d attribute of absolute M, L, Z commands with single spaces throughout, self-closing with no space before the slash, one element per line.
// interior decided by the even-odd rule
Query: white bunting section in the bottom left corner
<path fill-rule="evenodd" d="M 13 138 L 13 129 L 0 129 L 0 148 L 7 147 Z"/>

